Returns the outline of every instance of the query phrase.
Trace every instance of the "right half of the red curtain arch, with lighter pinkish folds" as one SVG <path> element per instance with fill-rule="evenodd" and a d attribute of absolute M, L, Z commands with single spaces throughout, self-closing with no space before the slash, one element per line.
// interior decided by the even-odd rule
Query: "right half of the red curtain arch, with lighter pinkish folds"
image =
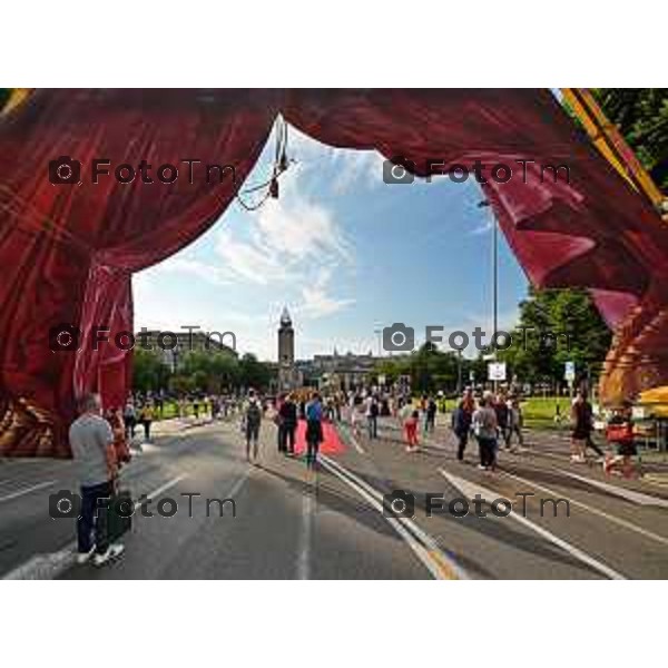
<path fill-rule="evenodd" d="M 488 166 L 483 186 L 532 283 L 591 289 L 617 326 L 603 396 L 668 382 L 668 226 L 591 146 L 548 90 L 291 91 L 289 122 L 338 147 Z M 522 165 L 527 164 L 524 183 Z M 515 166 L 505 184 L 489 167 Z M 570 184 L 541 166 L 564 164 Z M 562 173 L 563 175 L 563 173 Z"/>

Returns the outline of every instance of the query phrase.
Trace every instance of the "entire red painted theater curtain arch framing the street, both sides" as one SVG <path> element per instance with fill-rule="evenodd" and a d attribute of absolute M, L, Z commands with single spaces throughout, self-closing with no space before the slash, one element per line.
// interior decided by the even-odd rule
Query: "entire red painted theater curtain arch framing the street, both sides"
<path fill-rule="evenodd" d="M 549 91 L 38 90 L 0 117 L 0 454 L 67 455 L 78 393 L 121 403 L 130 356 L 53 353 L 49 330 L 71 323 L 85 340 L 94 325 L 131 330 L 131 273 L 222 215 L 279 111 L 320 141 L 403 156 L 418 174 L 428 159 L 534 160 L 528 183 L 483 186 L 520 263 L 539 286 L 592 289 L 617 327 L 607 396 L 668 381 L 668 228 Z M 236 183 L 56 187 L 48 163 L 61 155 L 84 165 L 197 158 L 235 165 Z M 570 184 L 540 183 L 546 164 L 569 165 Z"/>

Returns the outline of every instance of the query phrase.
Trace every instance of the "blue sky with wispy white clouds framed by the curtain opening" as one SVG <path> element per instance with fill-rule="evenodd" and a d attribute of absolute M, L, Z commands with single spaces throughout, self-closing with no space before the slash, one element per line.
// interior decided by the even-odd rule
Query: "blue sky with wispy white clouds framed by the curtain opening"
<path fill-rule="evenodd" d="M 267 144 L 245 187 L 272 165 Z M 239 352 L 276 358 L 287 305 L 299 358 L 377 353 L 374 330 L 394 322 L 445 333 L 491 332 L 491 212 L 473 178 L 383 181 L 375 151 L 324 146 L 289 128 L 296 164 L 281 197 L 248 213 L 234 203 L 194 244 L 134 278 L 135 323 L 233 331 Z M 247 199 L 252 200 L 250 196 Z M 517 318 L 527 279 L 500 235 L 500 327 Z"/>

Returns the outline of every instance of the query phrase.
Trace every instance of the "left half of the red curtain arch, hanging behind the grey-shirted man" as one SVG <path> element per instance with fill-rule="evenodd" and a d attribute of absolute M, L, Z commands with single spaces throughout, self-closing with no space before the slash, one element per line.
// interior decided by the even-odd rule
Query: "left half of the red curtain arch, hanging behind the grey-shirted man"
<path fill-rule="evenodd" d="M 0 119 L 0 455 L 67 455 L 75 396 L 101 390 L 120 405 L 129 355 L 91 350 L 90 328 L 132 330 L 131 273 L 171 255 L 225 210 L 262 150 L 273 91 L 39 90 Z M 53 186 L 48 163 L 155 169 L 184 158 L 234 165 L 236 183 Z M 197 175 L 194 166 L 194 176 Z M 81 330 L 76 353 L 53 353 L 49 330 Z"/>

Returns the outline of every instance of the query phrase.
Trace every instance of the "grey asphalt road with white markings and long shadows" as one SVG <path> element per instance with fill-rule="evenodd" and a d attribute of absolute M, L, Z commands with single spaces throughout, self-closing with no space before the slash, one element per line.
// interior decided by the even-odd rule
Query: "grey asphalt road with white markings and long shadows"
<path fill-rule="evenodd" d="M 49 494 L 76 489 L 71 462 L 0 463 L 0 577 L 67 579 L 597 579 L 668 577 L 668 488 L 606 478 L 568 462 L 567 444 L 532 435 L 531 448 L 502 452 L 500 470 L 475 466 L 475 450 L 454 458 L 440 425 L 410 454 L 396 424 L 354 438 L 345 424 L 317 471 L 276 452 L 263 423 L 257 465 L 245 461 L 236 421 L 158 436 L 122 474 L 146 494 L 124 538 L 125 554 L 104 568 L 73 563 L 72 519 L 49 517 Z M 412 518 L 383 515 L 383 494 L 415 498 Z M 426 517 L 426 494 L 466 517 Z M 525 507 L 518 493 L 525 497 Z M 188 497 L 184 494 L 200 494 Z M 475 494 L 485 502 L 478 509 Z M 170 512 L 176 502 L 177 512 Z M 223 504 L 215 501 L 233 499 Z M 409 497 L 410 499 L 410 497 Z M 494 517 L 491 502 L 512 512 Z M 549 499 L 564 499 L 556 505 Z M 208 513 L 207 513 L 207 500 Z M 541 511 L 542 503 L 542 511 Z M 503 513 L 505 504 L 494 507 Z M 223 517 L 220 517 L 220 509 Z M 460 503 L 455 510 L 462 511 Z M 487 517 L 477 517 L 477 510 Z M 510 507 L 508 507 L 510 510 Z"/>

